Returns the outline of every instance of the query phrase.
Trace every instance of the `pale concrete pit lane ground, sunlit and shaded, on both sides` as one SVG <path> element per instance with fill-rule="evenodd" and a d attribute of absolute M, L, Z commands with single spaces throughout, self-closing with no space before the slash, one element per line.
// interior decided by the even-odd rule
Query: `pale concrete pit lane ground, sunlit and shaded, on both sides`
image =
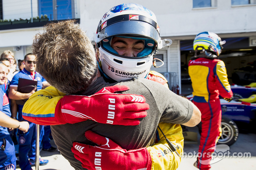
<path fill-rule="evenodd" d="M 190 130 L 190 129 L 189 129 Z M 191 131 L 196 131 L 197 129 L 193 128 Z M 198 134 L 198 141 L 200 136 Z M 51 140 L 52 146 L 56 147 L 53 140 Z M 199 143 L 196 144 L 184 144 L 184 152 L 182 157 L 181 164 L 178 170 L 196 170 L 197 168 L 193 166 L 196 161 L 196 155 L 192 154 L 197 153 Z M 239 134 L 239 137 L 235 144 L 230 146 L 229 150 L 230 155 L 235 154 L 239 157 L 244 156 L 245 152 L 250 152 L 251 158 L 231 158 L 230 156 L 226 158 L 219 158 L 218 162 L 213 163 L 211 170 L 223 170 L 223 169 L 232 169 L 232 170 L 256 170 L 256 134 Z M 236 154 L 235 152 L 239 153 Z M 60 155 L 60 152 L 40 152 L 42 159 L 48 159 L 49 163 L 44 166 L 39 166 L 39 170 L 74 170 L 70 166 L 69 162 Z M 32 167 L 35 170 L 35 167 Z M 18 170 L 18 169 L 16 169 Z M 20 170 L 20 169 L 19 169 Z"/>

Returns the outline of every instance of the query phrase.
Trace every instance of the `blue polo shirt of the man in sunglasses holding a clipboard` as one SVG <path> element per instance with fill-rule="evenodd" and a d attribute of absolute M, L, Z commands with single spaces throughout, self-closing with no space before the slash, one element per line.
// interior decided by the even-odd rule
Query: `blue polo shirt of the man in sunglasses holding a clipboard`
<path fill-rule="evenodd" d="M 37 81 L 37 91 L 41 90 L 42 86 L 43 86 L 42 83 L 46 82 L 46 80 L 43 78 L 43 76 L 41 76 L 41 74 L 39 74 L 36 71 L 35 71 L 34 79 L 32 78 L 32 76 L 30 74 L 31 73 L 24 68 L 23 70 L 21 70 L 20 72 L 18 72 L 17 74 L 15 74 L 13 76 L 12 81 L 10 83 L 10 87 L 18 87 L 19 78 L 25 78 L 25 79 Z M 18 107 L 23 108 L 23 105 L 18 105 Z"/>

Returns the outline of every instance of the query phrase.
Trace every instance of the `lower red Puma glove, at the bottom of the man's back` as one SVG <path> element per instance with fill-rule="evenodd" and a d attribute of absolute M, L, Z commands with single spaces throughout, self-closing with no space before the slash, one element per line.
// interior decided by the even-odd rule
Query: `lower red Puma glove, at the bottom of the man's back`
<path fill-rule="evenodd" d="M 82 166 L 89 170 L 150 170 L 151 156 L 147 148 L 126 151 L 107 137 L 90 130 L 85 137 L 99 146 L 73 143 L 71 151 Z"/>

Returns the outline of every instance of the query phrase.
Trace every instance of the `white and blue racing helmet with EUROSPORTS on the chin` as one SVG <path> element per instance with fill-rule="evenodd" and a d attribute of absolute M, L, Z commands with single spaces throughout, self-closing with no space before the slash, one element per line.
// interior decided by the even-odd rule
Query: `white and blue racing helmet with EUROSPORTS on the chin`
<path fill-rule="evenodd" d="M 161 40 L 155 14 L 140 4 L 124 3 L 103 15 L 94 38 L 100 72 L 115 81 L 146 78 L 155 61 L 156 51 L 172 44 Z M 113 37 L 143 40 L 137 57 L 119 55 L 112 47 Z"/>

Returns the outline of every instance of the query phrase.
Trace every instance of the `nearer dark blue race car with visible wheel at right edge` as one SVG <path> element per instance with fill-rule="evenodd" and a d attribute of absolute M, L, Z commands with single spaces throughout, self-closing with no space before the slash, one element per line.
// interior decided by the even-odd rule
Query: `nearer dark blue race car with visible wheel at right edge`
<path fill-rule="evenodd" d="M 238 129 L 240 132 L 252 132 L 255 125 L 256 115 L 256 95 L 252 95 L 249 98 L 231 100 L 227 102 L 224 99 L 220 99 L 222 118 L 221 129 L 222 135 L 218 141 L 218 144 L 232 145 L 238 138 Z"/>

